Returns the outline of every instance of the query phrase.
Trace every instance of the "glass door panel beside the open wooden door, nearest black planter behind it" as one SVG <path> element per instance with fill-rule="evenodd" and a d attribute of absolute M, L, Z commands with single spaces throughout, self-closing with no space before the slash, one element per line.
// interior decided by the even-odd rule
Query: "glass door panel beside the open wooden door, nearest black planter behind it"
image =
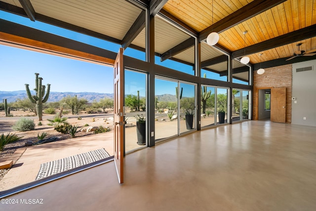
<path fill-rule="evenodd" d="M 125 152 L 146 146 L 146 74 L 125 70 Z"/>

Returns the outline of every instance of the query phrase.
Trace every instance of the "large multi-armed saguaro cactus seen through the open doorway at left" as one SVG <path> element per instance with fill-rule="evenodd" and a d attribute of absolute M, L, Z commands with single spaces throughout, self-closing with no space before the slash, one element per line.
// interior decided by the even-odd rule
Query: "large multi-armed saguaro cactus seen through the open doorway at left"
<path fill-rule="evenodd" d="M 36 73 L 35 76 L 35 88 L 36 95 L 31 95 L 31 91 L 29 88 L 29 84 L 25 84 L 26 93 L 28 95 L 29 100 L 32 103 L 36 103 L 36 111 L 38 113 L 39 121 L 42 121 L 42 114 L 43 114 L 43 103 L 48 100 L 50 84 L 47 84 L 47 92 L 45 95 L 45 85 L 41 84 L 42 78 L 39 78 L 39 73 Z M 45 97 L 44 97 L 45 95 Z M 44 97 L 44 98 L 43 98 Z"/>

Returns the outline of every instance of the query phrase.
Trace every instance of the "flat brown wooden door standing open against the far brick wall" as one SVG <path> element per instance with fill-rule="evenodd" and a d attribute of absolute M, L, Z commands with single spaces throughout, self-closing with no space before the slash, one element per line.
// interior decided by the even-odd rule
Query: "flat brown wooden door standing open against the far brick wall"
<path fill-rule="evenodd" d="M 271 117 L 276 123 L 285 123 L 286 116 L 286 87 L 271 89 Z"/>

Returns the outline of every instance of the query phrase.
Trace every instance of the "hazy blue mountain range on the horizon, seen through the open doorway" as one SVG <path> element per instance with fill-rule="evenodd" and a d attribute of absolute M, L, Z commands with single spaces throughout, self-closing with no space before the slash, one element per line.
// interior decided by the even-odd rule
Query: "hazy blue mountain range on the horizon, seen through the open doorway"
<path fill-rule="evenodd" d="M 35 94 L 34 90 L 31 90 L 32 95 Z M 113 93 L 97 93 L 97 92 L 49 92 L 49 98 L 47 102 L 58 102 L 62 98 L 66 96 L 75 96 L 80 98 L 87 99 L 88 102 L 92 102 L 93 100 L 99 101 L 104 97 L 113 98 Z M 15 102 L 18 98 L 23 99 L 26 98 L 27 94 L 25 90 L 19 91 L 0 91 L 0 100 L 7 99 L 7 102 Z"/>

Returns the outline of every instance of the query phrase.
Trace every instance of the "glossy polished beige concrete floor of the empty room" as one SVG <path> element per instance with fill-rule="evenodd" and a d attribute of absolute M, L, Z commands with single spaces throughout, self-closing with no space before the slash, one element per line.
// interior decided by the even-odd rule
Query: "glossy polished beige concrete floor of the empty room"
<path fill-rule="evenodd" d="M 197 131 L 126 155 L 124 179 L 110 162 L 7 197 L 18 204 L 0 210 L 315 211 L 316 127 Z M 29 199 L 42 204 L 21 204 Z"/>

